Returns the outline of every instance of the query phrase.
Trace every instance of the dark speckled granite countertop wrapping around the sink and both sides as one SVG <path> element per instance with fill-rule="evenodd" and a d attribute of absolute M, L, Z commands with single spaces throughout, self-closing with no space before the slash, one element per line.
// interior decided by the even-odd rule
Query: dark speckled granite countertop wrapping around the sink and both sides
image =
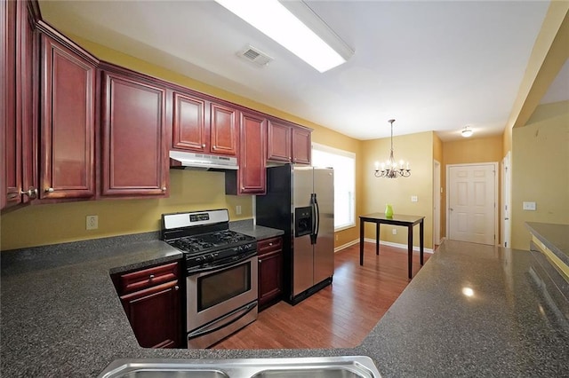
<path fill-rule="evenodd" d="M 535 287 L 525 251 L 445 241 L 357 348 L 150 350 L 136 343 L 109 273 L 174 251 L 146 234 L 87 244 L 52 247 L 66 252 L 40 266 L 31 249 L 0 254 L 2 376 L 96 376 L 116 358 L 337 355 L 369 356 L 384 377 L 569 375 L 569 332 Z"/>

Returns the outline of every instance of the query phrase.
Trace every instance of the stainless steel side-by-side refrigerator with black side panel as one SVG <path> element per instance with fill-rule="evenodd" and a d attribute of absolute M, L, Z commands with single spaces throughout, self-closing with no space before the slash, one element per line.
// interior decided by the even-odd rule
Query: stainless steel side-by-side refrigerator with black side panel
<path fill-rule="evenodd" d="M 296 304 L 332 283 L 332 168 L 267 169 L 267 194 L 256 196 L 256 223 L 284 231 L 284 300 Z"/>

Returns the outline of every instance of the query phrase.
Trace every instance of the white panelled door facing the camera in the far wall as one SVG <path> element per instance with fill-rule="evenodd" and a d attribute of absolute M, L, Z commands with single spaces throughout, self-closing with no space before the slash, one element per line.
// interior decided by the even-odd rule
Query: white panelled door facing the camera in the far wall
<path fill-rule="evenodd" d="M 448 166 L 449 239 L 495 243 L 496 163 Z"/>

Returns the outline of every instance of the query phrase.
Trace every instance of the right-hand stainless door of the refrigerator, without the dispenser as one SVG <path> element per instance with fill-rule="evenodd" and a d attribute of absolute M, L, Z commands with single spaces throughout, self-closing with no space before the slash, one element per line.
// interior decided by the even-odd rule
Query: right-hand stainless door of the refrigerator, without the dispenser
<path fill-rule="evenodd" d="M 314 169 L 317 199 L 317 243 L 314 246 L 314 285 L 334 272 L 334 176 L 333 169 Z"/>

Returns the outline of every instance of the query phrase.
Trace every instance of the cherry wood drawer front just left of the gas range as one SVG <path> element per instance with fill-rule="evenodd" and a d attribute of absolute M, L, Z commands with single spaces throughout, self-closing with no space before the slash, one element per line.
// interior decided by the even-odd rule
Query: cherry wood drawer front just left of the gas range
<path fill-rule="evenodd" d="M 178 280 L 178 270 L 179 263 L 175 262 L 121 274 L 119 277 L 120 295 L 154 287 L 164 282 Z"/>

